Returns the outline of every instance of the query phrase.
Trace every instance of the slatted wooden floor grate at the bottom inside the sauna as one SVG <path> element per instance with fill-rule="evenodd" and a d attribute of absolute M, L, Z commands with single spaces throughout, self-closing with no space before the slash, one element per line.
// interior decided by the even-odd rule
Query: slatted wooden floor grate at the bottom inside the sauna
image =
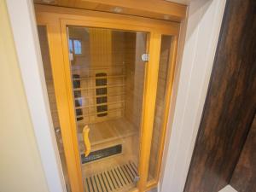
<path fill-rule="evenodd" d="M 85 192 L 126 191 L 135 187 L 137 175 L 137 166 L 129 161 L 124 165 L 85 177 L 84 189 Z"/>

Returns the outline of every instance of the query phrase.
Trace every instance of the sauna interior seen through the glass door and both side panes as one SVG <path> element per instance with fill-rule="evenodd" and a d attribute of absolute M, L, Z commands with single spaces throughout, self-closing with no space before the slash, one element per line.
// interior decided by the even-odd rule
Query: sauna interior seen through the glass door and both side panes
<path fill-rule="evenodd" d="M 38 35 L 55 134 L 62 166 L 65 167 L 44 26 L 38 26 Z M 137 177 L 145 73 L 145 63 L 141 55 L 147 49 L 147 33 L 69 27 L 68 39 L 79 149 L 85 180 L 90 179 L 91 176 L 93 178 L 100 176 L 101 179 L 102 174 L 103 176 L 106 174 L 109 182 L 113 179 L 113 184 L 117 185 L 112 188 L 127 184 L 126 187 L 129 189 Z M 166 90 L 166 72 L 171 45 L 171 37 L 163 36 L 163 39 L 165 44 L 161 45 L 160 52 L 152 157 L 156 157 L 158 152 L 160 117 L 163 115 L 161 109 L 165 107 L 163 96 Z M 85 125 L 90 129 L 91 152 L 87 157 L 84 155 L 83 141 Z M 105 150 L 105 154 L 99 153 L 102 149 Z M 151 158 L 150 161 L 148 179 L 155 174 L 155 159 Z M 115 177 L 119 182 L 114 179 Z M 67 175 L 66 179 L 68 186 Z M 123 183 L 120 183 L 122 181 Z"/>

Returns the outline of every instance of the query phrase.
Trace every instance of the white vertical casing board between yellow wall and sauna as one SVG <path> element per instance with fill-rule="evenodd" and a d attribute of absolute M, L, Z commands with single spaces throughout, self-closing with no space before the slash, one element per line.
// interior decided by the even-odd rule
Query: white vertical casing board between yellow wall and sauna
<path fill-rule="evenodd" d="M 49 111 L 33 3 L 32 0 L 7 0 L 6 3 L 22 78 L 20 83 L 24 85 L 37 141 L 32 147 L 39 150 L 49 192 L 64 192 L 66 188 Z"/>

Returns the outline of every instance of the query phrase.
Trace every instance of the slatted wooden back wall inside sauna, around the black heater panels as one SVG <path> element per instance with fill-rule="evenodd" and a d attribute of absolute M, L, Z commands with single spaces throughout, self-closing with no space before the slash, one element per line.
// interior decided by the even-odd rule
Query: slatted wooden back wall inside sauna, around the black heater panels
<path fill-rule="evenodd" d="M 102 122 L 123 116 L 125 108 L 125 63 L 124 32 L 113 32 L 110 29 L 69 27 L 69 37 L 81 39 L 82 55 L 74 55 L 73 74 L 79 74 L 83 117 L 79 125 Z M 119 52 L 117 52 L 119 51 Z M 108 102 L 96 103 L 96 73 L 106 73 L 108 85 Z M 97 96 L 99 98 L 99 96 Z M 108 106 L 107 115 L 98 117 L 96 106 Z"/>

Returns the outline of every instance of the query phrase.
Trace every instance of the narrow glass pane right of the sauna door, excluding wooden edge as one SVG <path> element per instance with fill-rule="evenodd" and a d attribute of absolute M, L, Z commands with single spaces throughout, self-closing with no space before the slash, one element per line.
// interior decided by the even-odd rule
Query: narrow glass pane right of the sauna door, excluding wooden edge
<path fill-rule="evenodd" d="M 160 142 L 164 139 L 164 118 L 166 108 L 169 108 L 169 106 L 166 106 L 166 88 L 170 73 L 171 44 L 172 36 L 161 36 L 160 66 L 154 110 L 153 135 L 148 166 L 148 181 L 157 176 L 158 168 L 160 167 L 160 153 L 163 150 L 163 148 L 160 148 Z"/>

